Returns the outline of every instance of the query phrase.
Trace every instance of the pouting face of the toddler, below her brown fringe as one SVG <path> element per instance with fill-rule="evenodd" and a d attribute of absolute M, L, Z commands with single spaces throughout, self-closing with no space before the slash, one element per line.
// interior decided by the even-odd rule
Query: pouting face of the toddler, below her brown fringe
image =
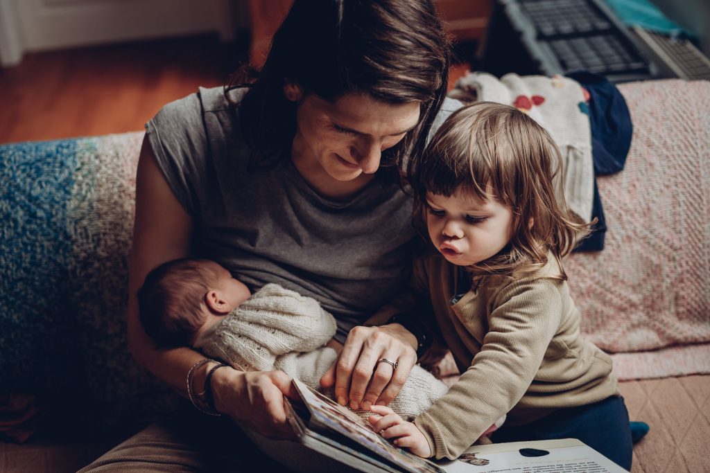
<path fill-rule="evenodd" d="M 494 199 L 481 202 L 461 191 L 427 192 L 427 229 L 437 250 L 454 265 L 469 266 L 496 255 L 510 242 L 513 212 Z"/>

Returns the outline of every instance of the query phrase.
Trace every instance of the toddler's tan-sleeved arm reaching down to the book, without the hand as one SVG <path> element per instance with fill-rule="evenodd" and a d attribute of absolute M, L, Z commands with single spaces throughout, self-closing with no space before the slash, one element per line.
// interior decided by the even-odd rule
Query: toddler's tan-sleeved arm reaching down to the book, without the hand
<path fill-rule="evenodd" d="M 487 327 L 480 314 L 464 314 L 471 340 L 484 335 L 481 349 L 449 392 L 414 420 L 434 457 L 457 458 L 528 391 L 562 318 L 556 284 L 530 277 L 504 285 L 491 296 Z"/>

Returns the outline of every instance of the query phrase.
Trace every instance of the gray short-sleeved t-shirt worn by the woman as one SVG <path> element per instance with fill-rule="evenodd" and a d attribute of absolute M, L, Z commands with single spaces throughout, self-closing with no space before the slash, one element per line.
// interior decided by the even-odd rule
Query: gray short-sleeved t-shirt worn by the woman
<path fill-rule="evenodd" d="M 459 106 L 447 100 L 437 126 Z M 344 342 L 408 282 L 412 200 L 398 184 L 373 179 L 349 201 L 331 201 L 290 160 L 249 169 L 238 121 L 215 87 L 146 123 L 158 166 L 195 223 L 192 257 L 219 262 L 252 291 L 275 283 L 316 299 Z"/>

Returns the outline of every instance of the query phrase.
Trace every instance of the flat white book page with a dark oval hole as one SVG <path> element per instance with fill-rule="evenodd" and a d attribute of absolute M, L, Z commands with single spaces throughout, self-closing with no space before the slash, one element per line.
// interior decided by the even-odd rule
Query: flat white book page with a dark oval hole
<path fill-rule="evenodd" d="M 440 462 L 439 466 L 447 473 L 626 472 L 577 439 L 474 445 L 459 460 Z"/>

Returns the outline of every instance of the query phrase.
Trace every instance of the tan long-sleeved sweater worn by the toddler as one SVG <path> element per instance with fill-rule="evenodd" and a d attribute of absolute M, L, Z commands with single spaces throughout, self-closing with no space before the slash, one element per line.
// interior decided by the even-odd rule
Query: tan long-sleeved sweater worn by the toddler
<path fill-rule="evenodd" d="M 619 395 L 611 358 L 579 336 L 579 311 L 550 262 L 534 276 L 484 277 L 453 306 L 457 269 L 440 255 L 415 262 L 412 289 L 368 321 L 386 321 L 430 299 L 461 378 L 414 423 L 432 456 L 458 457 L 497 418 L 534 421 L 557 408 Z M 475 286 L 475 284 L 474 284 Z M 464 289 L 465 290 L 465 289 Z"/>

